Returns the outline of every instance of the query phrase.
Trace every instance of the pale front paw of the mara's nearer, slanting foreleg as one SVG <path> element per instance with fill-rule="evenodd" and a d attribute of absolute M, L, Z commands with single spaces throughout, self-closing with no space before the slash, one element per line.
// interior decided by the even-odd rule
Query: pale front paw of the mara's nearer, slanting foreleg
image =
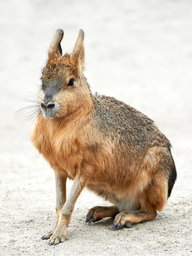
<path fill-rule="evenodd" d="M 49 246 L 59 244 L 67 240 L 67 227 L 64 224 L 58 224 L 49 240 Z"/>

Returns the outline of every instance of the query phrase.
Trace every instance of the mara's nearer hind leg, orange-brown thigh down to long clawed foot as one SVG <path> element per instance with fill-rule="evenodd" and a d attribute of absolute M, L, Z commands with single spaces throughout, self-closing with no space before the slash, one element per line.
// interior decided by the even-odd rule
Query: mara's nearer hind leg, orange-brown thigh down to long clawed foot
<path fill-rule="evenodd" d="M 132 223 L 151 221 L 157 216 L 157 210 L 161 211 L 166 204 L 168 182 L 161 172 L 156 172 L 151 184 L 145 189 L 139 198 L 140 209 L 138 211 L 120 212 L 113 221 L 115 227 L 131 227 Z"/>

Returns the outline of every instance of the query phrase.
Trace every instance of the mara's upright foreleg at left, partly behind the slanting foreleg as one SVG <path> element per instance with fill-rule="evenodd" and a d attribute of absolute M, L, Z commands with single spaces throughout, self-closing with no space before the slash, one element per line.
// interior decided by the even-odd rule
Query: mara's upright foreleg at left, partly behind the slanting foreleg
<path fill-rule="evenodd" d="M 56 218 L 55 218 L 55 222 L 53 224 L 52 230 L 50 230 L 49 232 L 47 232 L 43 236 L 41 236 L 41 239 L 43 239 L 43 240 L 49 239 L 52 236 L 53 232 L 55 231 L 55 228 L 57 227 L 59 214 L 60 214 L 61 209 L 64 206 L 64 203 L 66 201 L 66 181 L 67 181 L 67 176 L 58 176 L 55 173 Z"/>

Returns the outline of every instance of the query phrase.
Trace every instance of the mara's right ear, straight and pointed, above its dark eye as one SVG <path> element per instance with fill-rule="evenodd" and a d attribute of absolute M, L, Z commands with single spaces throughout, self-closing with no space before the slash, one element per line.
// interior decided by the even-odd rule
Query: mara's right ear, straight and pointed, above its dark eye
<path fill-rule="evenodd" d="M 79 35 L 76 41 L 76 45 L 71 54 L 73 63 L 83 72 L 84 70 L 84 32 L 82 29 L 79 30 Z"/>

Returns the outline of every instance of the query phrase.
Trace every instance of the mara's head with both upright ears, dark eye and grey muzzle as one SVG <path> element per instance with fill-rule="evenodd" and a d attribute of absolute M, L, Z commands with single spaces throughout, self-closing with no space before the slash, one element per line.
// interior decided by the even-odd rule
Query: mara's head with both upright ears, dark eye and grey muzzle
<path fill-rule="evenodd" d="M 64 117 L 75 113 L 90 101 L 89 87 L 84 79 L 84 32 L 81 29 L 72 54 L 62 56 L 64 32 L 58 29 L 49 47 L 39 94 L 41 113 L 45 118 Z"/>

